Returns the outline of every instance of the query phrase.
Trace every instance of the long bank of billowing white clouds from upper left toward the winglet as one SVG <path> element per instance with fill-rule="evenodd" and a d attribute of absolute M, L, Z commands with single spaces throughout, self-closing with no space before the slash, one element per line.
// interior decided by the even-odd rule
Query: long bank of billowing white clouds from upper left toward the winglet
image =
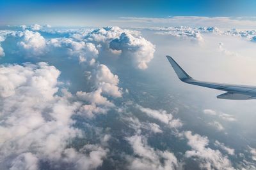
<path fill-rule="evenodd" d="M 54 37 L 68 34 L 67 38 L 47 38 L 41 33 L 51 33 L 52 29 L 38 29 L 40 25 L 33 25 L 31 29 L 14 31 L 7 35 L 8 42 L 18 45 L 20 49 L 13 47 L 8 53 L 19 53 L 22 56 L 46 56 L 56 55 L 56 52 L 67 53 L 68 57 L 76 56 L 80 63 L 91 62 L 105 53 L 119 57 L 120 62 L 128 63 L 127 66 L 135 66 L 146 69 L 153 59 L 155 46 L 140 36 L 138 31 L 129 31 L 119 27 L 104 27 L 100 29 L 88 29 L 81 31 L 66 30 L 63 32 L 53 31 Z M 40 26 L 41 27 L 41 26 Z M 35 32 L 38 31 L 38 32 Z M 79 32 L 81 31 L 81 32 Z M 14 38 L 14 39 L 13 39 Z M 12 45 L 12 46 L 13 46 Z M 10 47 L 12 47 L 10 46 Z M 3 55 L 3 52 L 1 52 Z"/>

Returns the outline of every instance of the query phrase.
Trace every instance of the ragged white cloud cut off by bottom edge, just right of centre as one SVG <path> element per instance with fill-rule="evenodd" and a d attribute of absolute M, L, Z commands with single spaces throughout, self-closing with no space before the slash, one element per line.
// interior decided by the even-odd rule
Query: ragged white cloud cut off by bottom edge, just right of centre
<path fill-rule="evenodd" d="M 138 134 L 126 138 L 136 157 L 127 157 L 129 169 L 175 169 L 178 161 L 173 153 L 147 145 L 147 138 Z"/>

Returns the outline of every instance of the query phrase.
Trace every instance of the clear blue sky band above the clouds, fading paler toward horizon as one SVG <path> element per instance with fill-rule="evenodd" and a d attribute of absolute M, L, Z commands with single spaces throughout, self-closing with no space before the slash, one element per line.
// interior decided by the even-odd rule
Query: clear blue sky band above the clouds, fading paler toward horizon
<path fill-rule="evenodd" d="M 70 24 L 74 20 L 100 22 L 118 17 L 254 17 L 255 7 L 256 1 L 253 0 L 0 0 L 0 23 L 42 24 L 65 20 Z"/>

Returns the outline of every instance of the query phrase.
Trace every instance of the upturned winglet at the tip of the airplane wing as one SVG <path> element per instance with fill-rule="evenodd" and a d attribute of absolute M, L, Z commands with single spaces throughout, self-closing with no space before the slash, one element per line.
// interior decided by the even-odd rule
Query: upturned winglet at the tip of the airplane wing
<path fill-rule="evenodd" d="M 166 55 L 166 58 L 169 60 L 175 73 L 177 74 L 177 76 L 179 77 L 179 79 L 181 81 L 186 81 L 186 80 L 192 79 L 191 76 L 189 76 L 189 74 L 186 73 L 186 71 L 184 71 L 184 69 L 182 69 L 182 67 L 180 67 L 179 64 L 177 64 L 177 62 L 175 62 L 175 60 L 172 59 L 172 57 L 170 57 L 169 55 Z"/>

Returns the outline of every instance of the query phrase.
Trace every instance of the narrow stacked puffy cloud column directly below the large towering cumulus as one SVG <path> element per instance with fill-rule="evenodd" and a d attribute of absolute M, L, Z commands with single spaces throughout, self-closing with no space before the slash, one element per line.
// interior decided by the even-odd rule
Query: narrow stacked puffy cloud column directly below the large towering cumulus
<path fill-rule="evenodd" d="M 104 64 L 96 64 L 94 72 L 89 73 L 90 80 L 95 83 L 97 90 L 92 92 L 77 92 L 76 95 L 79 99 L 86 101 L 89 104 L 84 104 L 79 113 L 86 115 L 88 118 L 93 118 L 97 114 L 105 114 L 115 106 L 115 104 L 108 101 L 102 94 L 113 97 L 121 97 L 122 92 L 118 87 L 118 76 L 111 73 L 107 66 Z"/>

